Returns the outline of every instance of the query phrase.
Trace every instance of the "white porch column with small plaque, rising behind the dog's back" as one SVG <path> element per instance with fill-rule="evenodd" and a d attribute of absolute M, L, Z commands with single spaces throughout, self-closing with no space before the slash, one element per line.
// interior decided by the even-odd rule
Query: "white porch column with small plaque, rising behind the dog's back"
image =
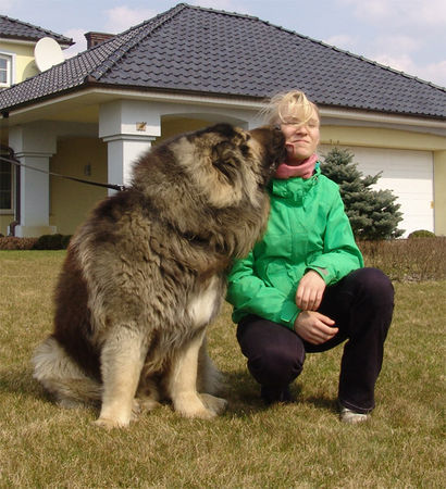
<path fill-rule="evenodd" d="M 135 100 L 102 104 L 99 137 L 108 143 L 109 184 L 128 185 L 133 164 L 158 136 L 161 136 L 161 116 L 156 104 Z"/>

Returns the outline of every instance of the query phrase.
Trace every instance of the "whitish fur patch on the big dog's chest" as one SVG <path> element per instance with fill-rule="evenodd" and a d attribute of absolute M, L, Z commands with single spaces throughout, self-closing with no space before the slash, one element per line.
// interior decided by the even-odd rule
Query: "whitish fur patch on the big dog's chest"
<path fill-rule="evenodd" d="M 195 327 L 209 324 L 219 311 L 222 290 L 216 277 L 190 297 L 187 314 Z"/>

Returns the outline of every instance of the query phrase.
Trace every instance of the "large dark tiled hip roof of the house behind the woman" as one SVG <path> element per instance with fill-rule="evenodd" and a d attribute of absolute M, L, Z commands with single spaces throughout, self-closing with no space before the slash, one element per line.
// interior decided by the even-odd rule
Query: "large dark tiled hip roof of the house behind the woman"
<path fill-rule="evenodd" d="M 0 92 L 0 109 L 84 86 L 263 99 L 299 88 L 321 105 L 446 117 L 446 89 L 263 22 L 179 3 Z"/>

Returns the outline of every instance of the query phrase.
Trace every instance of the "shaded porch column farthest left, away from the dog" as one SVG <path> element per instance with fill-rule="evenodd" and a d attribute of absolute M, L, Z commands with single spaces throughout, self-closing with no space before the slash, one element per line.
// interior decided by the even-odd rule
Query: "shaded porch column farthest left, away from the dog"
<path fill-rule="evenodd" d="M 26 166 L 21 167 L 20 225 L 15 236 L 38 237 L 57 231 L 49 225 L 50 181 L 49 159 L 55 153 L 55 135 L 41 125 L 12 127 L 9 143 L 16 158 Z"/>

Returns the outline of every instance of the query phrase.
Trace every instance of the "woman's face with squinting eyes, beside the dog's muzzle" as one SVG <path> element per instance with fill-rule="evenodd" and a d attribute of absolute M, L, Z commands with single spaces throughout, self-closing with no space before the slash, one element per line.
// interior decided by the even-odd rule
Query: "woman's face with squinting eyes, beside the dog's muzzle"
<path fill-rule="evenodd" d="M 315 111 L 305 124 L 281 124 L 281 129 L 285 136 L 288 165 L 298 165 L 315 152 L 319 145 L 319 116 Z"/>

